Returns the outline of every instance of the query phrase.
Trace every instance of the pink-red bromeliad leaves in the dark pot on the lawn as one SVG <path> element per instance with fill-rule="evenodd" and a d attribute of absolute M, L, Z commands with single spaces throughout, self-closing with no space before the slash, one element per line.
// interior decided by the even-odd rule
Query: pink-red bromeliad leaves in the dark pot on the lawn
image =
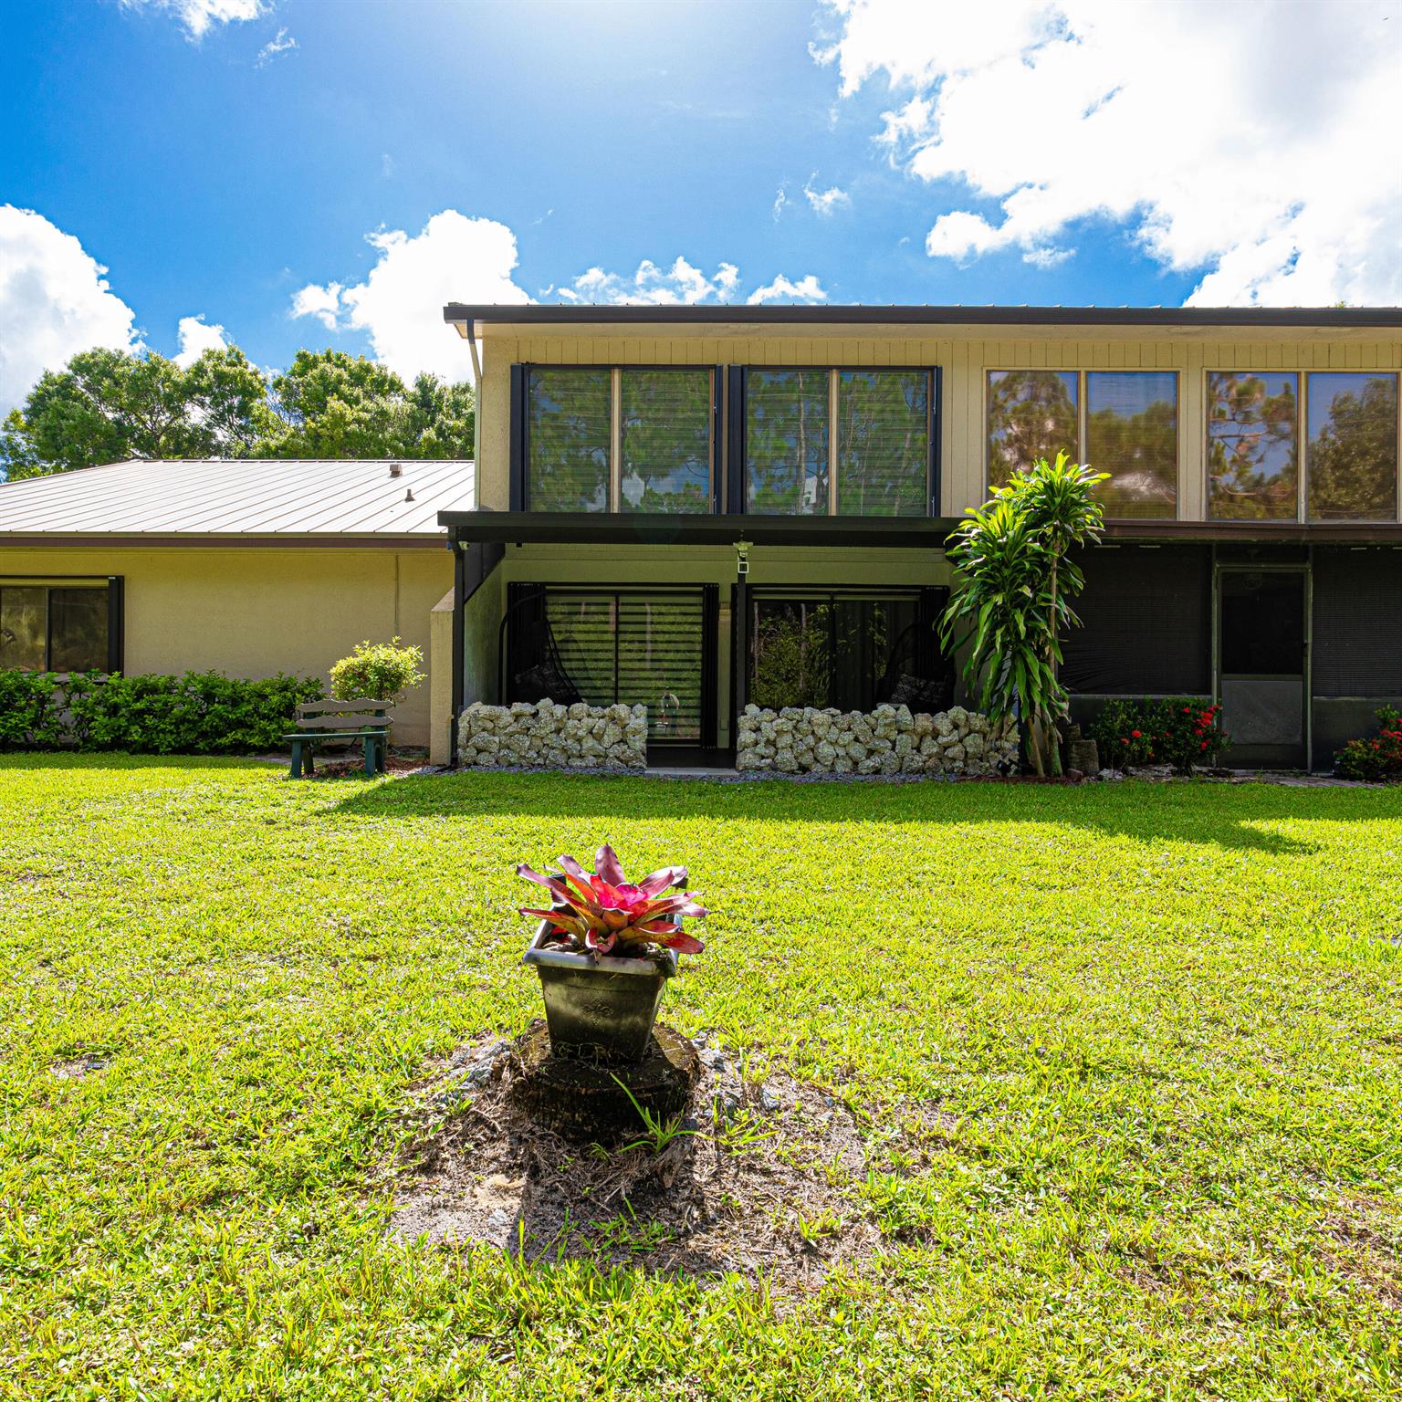
<path fill-rule="evenodd" d="M 548 920 L 552 934 L 568 948 L 594 955 L 645 955 L 653 945 L 698 955 L 700 939 L 681 930 L 684 918 L 705 910 L 700 894 L 681 890 L 686 866 L 663 866 L 634 885 L 618 865 L 618 854 L 604 843 L 594 854 L 594 871 L 586 872 L 573 857 L 559 858 L 559 872 L 543 876 L 524 862 L 517 876 L 544 886 L 554 900 L 548 910 L 522 907 L 523 916 Z"/>

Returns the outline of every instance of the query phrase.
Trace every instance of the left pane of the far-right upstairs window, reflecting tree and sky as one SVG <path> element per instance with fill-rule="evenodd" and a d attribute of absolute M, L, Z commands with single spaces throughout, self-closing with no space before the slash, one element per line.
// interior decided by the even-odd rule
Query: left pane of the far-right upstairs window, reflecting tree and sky
<path fill-rule="evenodd" d="M 1294 520 L 1297 374 L 1207 376 L 1207 482 L 1214 520 Z"/>

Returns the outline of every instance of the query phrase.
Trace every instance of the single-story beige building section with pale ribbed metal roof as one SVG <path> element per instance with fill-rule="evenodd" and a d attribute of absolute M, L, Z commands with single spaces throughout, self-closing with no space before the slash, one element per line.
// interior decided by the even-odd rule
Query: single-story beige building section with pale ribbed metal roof
<path fill-rule="evenodd" d="M 0 667 L 325 680 L 358 642 L 423 649 L 395 740 L 429 744 L 470 461 L 129 461 L 0 484 Z"/>

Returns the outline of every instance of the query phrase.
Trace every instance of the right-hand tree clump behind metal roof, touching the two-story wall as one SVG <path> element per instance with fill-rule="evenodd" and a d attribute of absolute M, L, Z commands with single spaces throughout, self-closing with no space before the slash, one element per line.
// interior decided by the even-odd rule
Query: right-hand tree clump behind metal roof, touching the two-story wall
<path fill-rule="evenodd" d="M 276 418 L 257 457 L 471 457 L 470 384 L 390 369 L 345 350 L 299 350 L 272 381 Z"/>

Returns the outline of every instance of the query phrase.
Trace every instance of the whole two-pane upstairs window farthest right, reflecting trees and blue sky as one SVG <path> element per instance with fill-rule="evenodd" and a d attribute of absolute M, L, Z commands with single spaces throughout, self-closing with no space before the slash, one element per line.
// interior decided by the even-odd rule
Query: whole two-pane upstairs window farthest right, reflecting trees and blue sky
<path fill-rule="evenodd" d="M 1395 520 L 1398 377 L 1210 372 L 1207 496 L 1213 520 Z"/>

